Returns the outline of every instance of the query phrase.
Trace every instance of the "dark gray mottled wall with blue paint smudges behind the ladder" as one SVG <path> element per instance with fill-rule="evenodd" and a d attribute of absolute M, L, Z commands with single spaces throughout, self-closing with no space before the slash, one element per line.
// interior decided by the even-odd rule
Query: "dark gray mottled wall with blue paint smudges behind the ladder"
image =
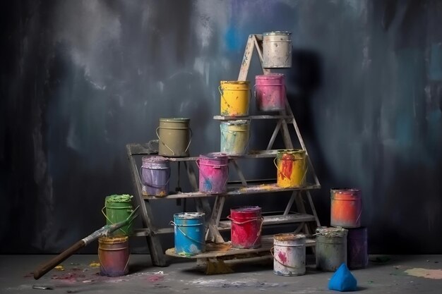
<path fill-rule="evenodd" d="M 330 188 L 361 188 L 371 253 L 442 253 L 441 1 L 23 0 L 0 11 L 1 253 L 59 252 L 102 226 L 104 197 L 133 192 L 126 143 L 155 139 L 161 117 L 191 118 L 193 155 L 217 151 L 217 85 L 237 78 L 247 36 L 271 30 L 293 33 L 282 72 L 323 184 L 321 222 Z M 251 146 L 272 128 L 253 125 Z M 268 171 L 249 163 L 252 176 Z M 154 206 L 163 225 L 183 209 Z"/>

